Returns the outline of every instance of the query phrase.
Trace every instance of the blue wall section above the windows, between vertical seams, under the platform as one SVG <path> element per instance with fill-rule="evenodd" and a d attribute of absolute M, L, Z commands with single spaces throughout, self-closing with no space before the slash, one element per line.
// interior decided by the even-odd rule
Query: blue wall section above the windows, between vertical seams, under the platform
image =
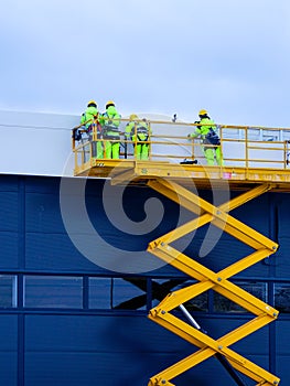
<path fill-rule="evenodd" d="M 56 179 L 51 179 L 51 183 L 58 186 L 55 180 Z M 179 216 L 178 205 L 162 197 L 165 214 L 155 229 L 146 235 L 133 236 L 121 232 L 107 218 L 104 207 L 101 206 L 103 186 L 104 183 L 99 180 L 89 181 L 86 203 L 92 224 L 96 226 L 98 234 L 104 238 L 108 247 L 111 245 L 125 250 L 146 250 L 150 240 L 175 227 Z M 36 193 L 34 191 L 36 191 Z M 125 195 L 126 200 L 123 200 L 125 212 L 132 217 L 132 221 L 142 221 L 146 215 L 143 212 L 144 202 L 150 196 L 157 197 L 158 194 L 150 189 L 140 187 L 128 187 L 127 191 Z M 114 187 L 111 197 L 107 200 L 114 200 L 117 194 L 116 192 L 119 191 Z M 204 195 L 206 196 L 206 194 Z M 161 199 L 160 196 L 158 197 Z M 268 205 L 268 199 L 265 197 L 264 201 L 260 199 L 259 204 L 250 204 L 253 207 L 247 211 L 247 223 L 256 228 L 258 227 L 264 234 L 269 234 L 269 222 L 265 221 L 264 216 L 259 215 L 258 210 L 260 205 Z M 136 208 L 139 210 L 137 211 Z M 237 212 L 237 214 L 239 215 L 238 217 L 241 217 L 241 214 L 244 214 L 245 217 L 245 212 L 243 211 Z M 191 215 L 185 213 L 184 221 L 190 218 Z M 245 218 L 241 219 L 244 221 Z M 93 269 L 95 272 L 103 271 L 103 269 L 99 270 L 98 267 L 93 267 L 89 261 L 85 261 L 85 258 L 76 250 L 67 237 L 60 213 L 58 190 L 50 189 L 47 182 L 44 183 L 41 189 L 37 189 L 36 181 L 30 181 L 29 192 L 26 192 L 26 267 L 29 269 L 58 268 L 61 270 L 67 269 L 72 271 L 78 269 Z M 82 233 L 82 227 L 79 227 L 79 233 Z M 86 237 L 86 235 L 84 235 L 84 237 Z M 216 240 L 211 239 L 213 234 L 208 236 L 206 227 L 198 229 L 193 236 L 184 237 L 182 240 L 176 242 L 175 245 L 179 247 L 182 246 L 181 249 L 184 249 L 185 254 L 195 256 L 198 260 L 200 248 L 205 237 L 208 237 L 208 242 L 213 243 L 213 249 L 206 257 L 201 258 L 201 262 L 214 270 L 221 270 L 226 267 L 229 261 L 234 262 L 251 251 L 249 247 L 237 242 L 227 234 L 218 234 Z M 52 239 L 54 243 L 52 243 Z M 233 254 L 233 251 L 235 253 Z M 101 255 L 108 254 L 109 256 L 110 249 L 99 249 L 98 253 Z M 108 257 L 106 256 L 106 258 Z M 116 258 L 116 256 L 114 256 L 114 258 Z M 148 259 L 152 259 L 152 257 L 149 256 Z M 167 267 L 165 270 L 172 272 L 171 268 Z M 268 266 L 264 262 L 259 262 L 246 272 L 243 272 L 241 276 L 268 276 Z"/>

